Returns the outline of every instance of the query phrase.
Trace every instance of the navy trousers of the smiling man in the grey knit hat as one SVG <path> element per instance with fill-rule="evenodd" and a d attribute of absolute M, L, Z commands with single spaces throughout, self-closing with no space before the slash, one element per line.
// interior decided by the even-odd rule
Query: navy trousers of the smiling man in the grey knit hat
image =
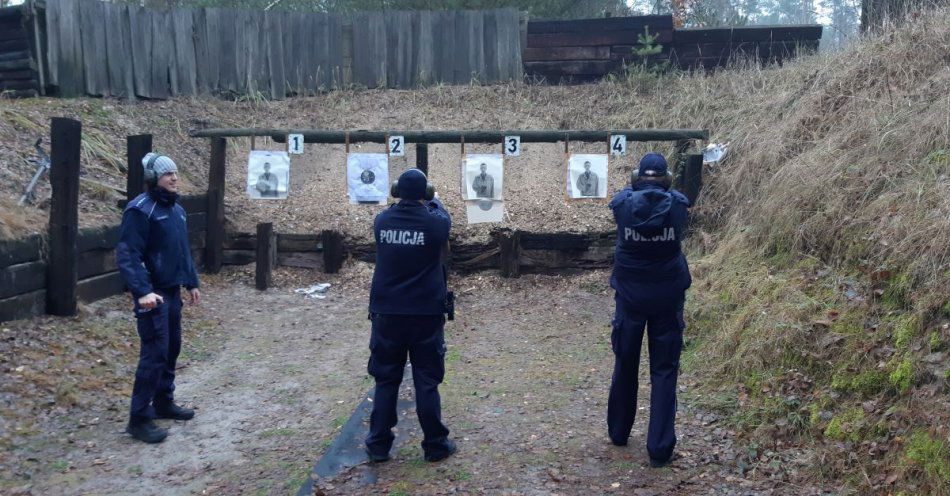
<path fill-rule="evenodd" d="M 174 399 L 175 362 L 181 352 L 181 288 L 156 289 L 155 293 L 165 302 L 151 310 L 135 302 L 141 347 L 132 385 L 132 423 L 155 418 L 155 407 Z"/>

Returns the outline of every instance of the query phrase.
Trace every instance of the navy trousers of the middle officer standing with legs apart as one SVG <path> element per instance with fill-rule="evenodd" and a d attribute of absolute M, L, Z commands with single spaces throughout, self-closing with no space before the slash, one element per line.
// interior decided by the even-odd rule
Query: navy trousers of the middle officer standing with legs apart
<path fill-rule="evenodd" d="M 442 424 L 439 384 L 445 378 L 445 318 L 441 315 L 373 314 L 367 370 L 376 379 L 373 413 L 366 448 L 374 455 L 389 454 L 396 426 L 396 402 L 406 366 L 412 363 L 416 414 L 422 426 L 422 449 L 430 455 L 447 450 L 449 430 Z"/>

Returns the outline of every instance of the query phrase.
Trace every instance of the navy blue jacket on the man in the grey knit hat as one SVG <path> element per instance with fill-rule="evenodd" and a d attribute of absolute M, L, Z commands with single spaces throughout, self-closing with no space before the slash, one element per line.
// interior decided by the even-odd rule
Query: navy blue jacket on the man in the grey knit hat
<path fill-rule="evenodd" d="M 115 261 L 136 298 L 155 289 L 198 287 L 187 215 L 174 200 L 142 193 L 125 207 Z"/>

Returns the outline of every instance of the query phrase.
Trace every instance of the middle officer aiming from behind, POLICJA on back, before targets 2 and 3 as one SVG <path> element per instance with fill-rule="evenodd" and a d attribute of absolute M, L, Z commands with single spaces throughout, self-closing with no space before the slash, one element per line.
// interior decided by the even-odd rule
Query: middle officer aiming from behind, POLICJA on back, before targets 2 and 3
<path fill-rule="evenodd" d="M 376 379 L 366 452 L 374 462 L 389 459 L 396 425 L 396 400 L 406 357 L 412 363 L 416 413 L 425 459 L 455 452 L 442 424 L 439 384 L 445 376 L 446 275 L 442 249 L 452 219 L 425 174 L 410 169 L 393 187 L 399 203 L 376 216 L 376 270 L 370 290 L 372 319 L 367 369 Z"/>

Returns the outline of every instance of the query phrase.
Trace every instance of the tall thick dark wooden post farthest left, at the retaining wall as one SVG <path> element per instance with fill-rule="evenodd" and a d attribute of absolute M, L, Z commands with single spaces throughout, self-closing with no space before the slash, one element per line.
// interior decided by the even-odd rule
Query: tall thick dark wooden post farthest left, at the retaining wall
<path fill-rule="evenodd" d="M 46 313 L 76 314 L 76 281 L 79 278 L 79 150 L 82 124 L 54 117 L 50 129 L 49 255 L 46 277 Z"/>

